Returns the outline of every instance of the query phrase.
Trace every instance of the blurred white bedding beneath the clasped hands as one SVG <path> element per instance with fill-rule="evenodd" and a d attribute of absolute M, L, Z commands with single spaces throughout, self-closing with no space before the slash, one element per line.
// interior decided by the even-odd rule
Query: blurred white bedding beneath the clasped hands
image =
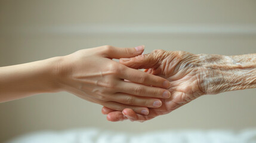
<path fill-rule="evenodd" d="M 163 130 L 132 134 L 100 129 L 75 129 L 61 132 L 30 133 L 8 143 L 256 143 L 256 129 L 240 130 Z"/>

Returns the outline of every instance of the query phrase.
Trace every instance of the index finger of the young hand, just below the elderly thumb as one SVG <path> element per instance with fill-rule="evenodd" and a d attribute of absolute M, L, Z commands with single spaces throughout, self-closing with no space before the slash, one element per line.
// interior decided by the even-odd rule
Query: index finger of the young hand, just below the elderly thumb
<path fill-rule="evenodd" d="M 120 74 L 121 79 L 127 79 L 131 82 L 141 83 L 143 85 L 152 85 L 159 88 L 169 88 L 170 83 L 163 77 L 155 76 L 150 73 L 145 73 L 140 70 L 125 67 L 125 70 Z"/>

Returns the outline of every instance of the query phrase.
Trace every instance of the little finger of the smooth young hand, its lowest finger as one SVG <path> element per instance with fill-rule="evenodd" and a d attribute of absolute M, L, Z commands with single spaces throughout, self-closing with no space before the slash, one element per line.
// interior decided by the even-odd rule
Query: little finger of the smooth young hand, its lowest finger
<path fill-rule="evenodd" d="M 107 108 L 110 108 L 112 110 L 116 110 L 116 111 L 122 111 L 125 108 L 131 108 L 132 110 L 134 110 L 135 113 L 144 114 L 144 115 L 149 114 L 149 108 L 125 105 L 125 104 L 121 104 L 121 103 L 113 102 L 113 101 L 107 102 L 107 105 L 104 105 L 104 106 Z"/>

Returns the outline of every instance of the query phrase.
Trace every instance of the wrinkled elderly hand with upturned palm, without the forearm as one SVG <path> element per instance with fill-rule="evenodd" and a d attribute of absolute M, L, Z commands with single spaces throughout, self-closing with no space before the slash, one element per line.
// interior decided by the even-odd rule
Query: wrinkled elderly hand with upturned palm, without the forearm
<path fill-rule="evenodd" d="M 108 114 L 107 119 L 112 122 L 125 119 L 143 122 L 156 116 L 170 113 L 182 105 L 201 97 L 201 95 L 217 94 L 221 89 L 213 90 L 210 85 L 211 82 L 215 82 L 214 80 L 221 79 L 221 76 L 206 81 L 206 75 L 211 76 L 209 68 L 204 66 L 207 62 L 207 60 L 202 59 L 201 55 L 164 50 L 155 50 L 150 54 L 121 59 L 120 63 L 125 66 L 134 69 L 148 69 L 146 70 L 147 73 L 168 79 L 171 85 L 168 88 L 171 92 L 171 97 L 162 99 L 161 107 L 150 108 L 147 116 L 135 114 L 129 108 L 121 112 L 103 107 L 102 113 Z"/>

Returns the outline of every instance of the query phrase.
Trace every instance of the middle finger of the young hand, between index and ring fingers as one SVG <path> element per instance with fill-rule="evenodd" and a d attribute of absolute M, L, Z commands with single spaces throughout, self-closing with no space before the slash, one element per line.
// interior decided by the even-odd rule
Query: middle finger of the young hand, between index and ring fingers
<path fill-rule="evenodd" d="M 117 91 L 137 95 L 139 97 L 169 98 L 171 93 L 162 88 L 140 85 L 132 82 L 121 82 L 116 86 Z"/>

